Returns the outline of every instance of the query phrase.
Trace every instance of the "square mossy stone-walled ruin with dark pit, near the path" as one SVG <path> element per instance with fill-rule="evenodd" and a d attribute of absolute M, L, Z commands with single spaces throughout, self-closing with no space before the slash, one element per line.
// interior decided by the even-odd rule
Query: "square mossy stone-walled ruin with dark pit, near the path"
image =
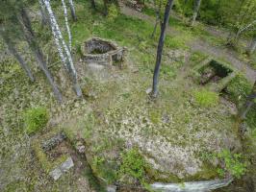
<path fill-rule="evenodd" d="M 228 64 L 207 58 L 193 68 L 193 78 L 198 84 L 207 86 L 210 90 L 220 92 L 237 73 Z"/>

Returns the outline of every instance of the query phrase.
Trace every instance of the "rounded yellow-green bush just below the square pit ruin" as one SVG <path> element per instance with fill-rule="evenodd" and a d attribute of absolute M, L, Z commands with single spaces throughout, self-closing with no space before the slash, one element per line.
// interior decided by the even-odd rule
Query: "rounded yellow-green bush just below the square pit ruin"
<path fill-rule="evenodd" d="M 214 107 L 218 104 L 218 94 L 205 89 L 194 91 L 193 97 L 201 107 Z"/>

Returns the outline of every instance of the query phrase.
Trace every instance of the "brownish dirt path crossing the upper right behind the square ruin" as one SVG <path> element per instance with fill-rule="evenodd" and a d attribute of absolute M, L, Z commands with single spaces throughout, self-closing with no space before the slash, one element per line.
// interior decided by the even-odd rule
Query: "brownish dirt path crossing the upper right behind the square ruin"
<path fill-rule="evenodd" d="M 142 12 L 137 12 L 134 9 L 126 7 L 123 3 L 120 3 L 120 10 L 123 14 L 140 18 L 141 20 L 152 23 L 152 25 L 155 23 L 155 18 L 153 16 L 149 16 Z M 178 35 L 179 32 L 173 28 L 167 28 L 167 34 L 173 36 Z M 253 83 L 256 80 L 256 71 L 248 66 L 246 62 L 239 60 L 235 53 L 232 53 L 230 50 L 224 47 L 212 46 L 211 44 L 200 39 L 192 41 L 189 46 L 191 47 L 192 51 L 201 51 L 205 54 L 212 55 L 217 58 L 220 57 L 229 61 L 238 70 L 242 71 L 250 82 Z"/>

